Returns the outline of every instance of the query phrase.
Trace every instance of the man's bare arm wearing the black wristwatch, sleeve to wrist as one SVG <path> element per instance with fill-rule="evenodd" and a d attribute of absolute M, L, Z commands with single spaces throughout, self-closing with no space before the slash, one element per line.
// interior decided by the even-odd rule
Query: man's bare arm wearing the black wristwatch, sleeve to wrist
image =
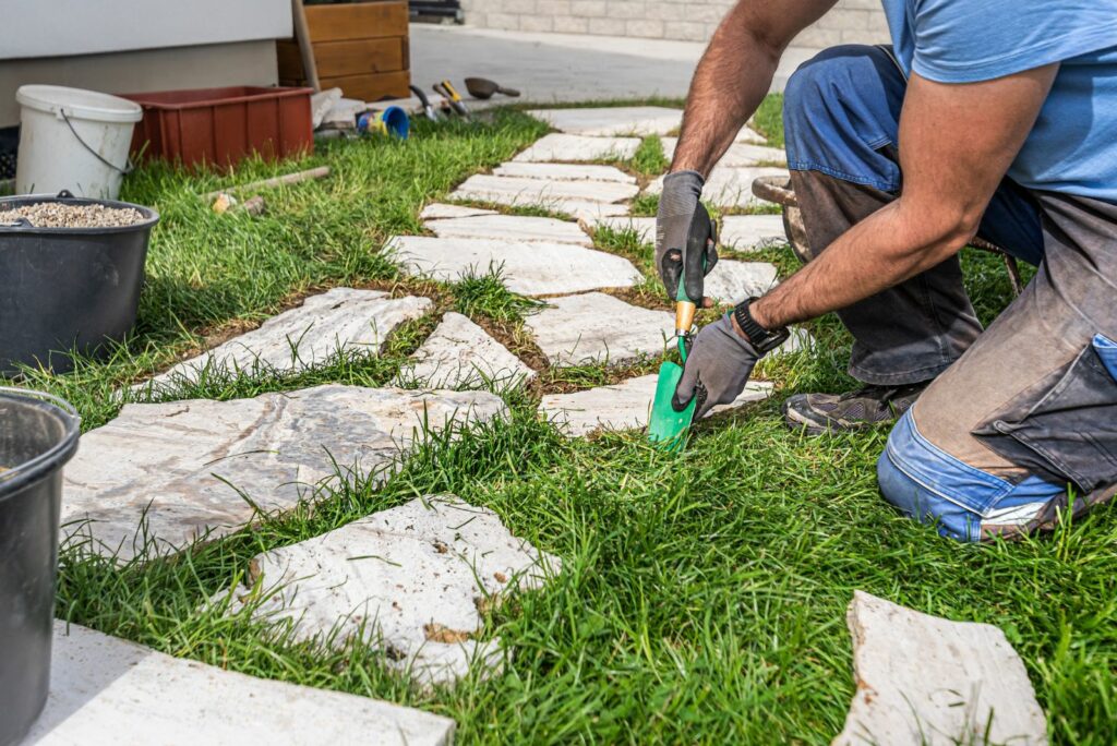
<path fill-rule="evenodd" d="M 960 251 L 977 232 L 1058 68 L 962 85 L 913 74 L 899 127 L 903 194 L 754 303 L 757 323 L 776 328 L 844 308 Z"/>

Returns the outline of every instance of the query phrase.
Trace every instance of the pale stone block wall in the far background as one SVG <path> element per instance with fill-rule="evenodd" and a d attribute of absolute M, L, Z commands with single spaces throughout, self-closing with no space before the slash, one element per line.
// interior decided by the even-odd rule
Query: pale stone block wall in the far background
<path fill-rule="evenodd" d="M 706 41 L 736 0 L 462 0 L 466 23 L 514 31 Z M 838 4 L 794 41 L 800 47 L 888 41 L 880 0 Z"/>

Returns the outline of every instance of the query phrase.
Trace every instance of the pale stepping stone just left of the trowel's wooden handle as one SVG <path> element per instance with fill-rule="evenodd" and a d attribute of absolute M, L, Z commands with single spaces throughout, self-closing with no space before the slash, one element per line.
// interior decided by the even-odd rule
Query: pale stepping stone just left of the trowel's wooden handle
<path fill-rule="evenodd" d="M 632 306 L 603 293 L 547 300 L 525 326 L 552 365 L 619 363 L 658 355 L 675 334 L 675 317 Z"/>

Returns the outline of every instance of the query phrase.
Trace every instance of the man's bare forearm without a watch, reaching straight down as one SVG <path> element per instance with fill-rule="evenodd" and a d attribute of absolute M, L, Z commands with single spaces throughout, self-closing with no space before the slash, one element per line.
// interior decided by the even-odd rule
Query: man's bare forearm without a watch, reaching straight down
<path fill-rule="evenodd" d="M 737 2 L 722 20 L 690 82 L 671 171 L 709 175 L 767 94 L 783 50 L 834 2 Z"/>

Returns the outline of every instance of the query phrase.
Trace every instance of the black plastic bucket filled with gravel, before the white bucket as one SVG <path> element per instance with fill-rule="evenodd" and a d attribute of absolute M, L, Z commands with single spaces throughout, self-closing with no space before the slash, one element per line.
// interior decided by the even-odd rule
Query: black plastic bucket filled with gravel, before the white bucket
<path fill-rule="evenodd" d="M 73 367 L 66 353 L 97 354 L 106 341 L 123 339 L 136 321 L 159 213 L 69 192 L 0 199 L 0 211 L 40 202 L 132 208 L 144 220 L 120 228 L 0 226 L 0 375 L 15 373 L 16 363 L 65 373 Z"/>

